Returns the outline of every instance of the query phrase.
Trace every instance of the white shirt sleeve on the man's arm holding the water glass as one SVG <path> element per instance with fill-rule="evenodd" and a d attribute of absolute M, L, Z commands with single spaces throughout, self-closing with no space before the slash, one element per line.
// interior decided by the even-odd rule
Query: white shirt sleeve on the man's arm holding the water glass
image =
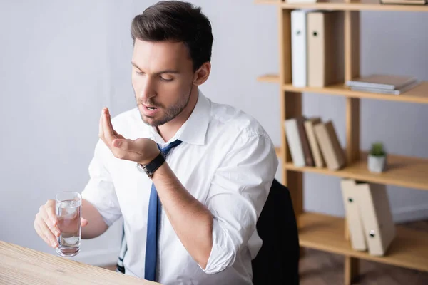
<path fill-rule="evenodd" d="M 108 172 L 106 160 L 110 150 L 102 140 L 98 140 L 93 158 L 89 164 L 89 181 L 81 193 L 82 198 L 93 204 L 110 227 L 121 217 L 116 190 Z"/>

